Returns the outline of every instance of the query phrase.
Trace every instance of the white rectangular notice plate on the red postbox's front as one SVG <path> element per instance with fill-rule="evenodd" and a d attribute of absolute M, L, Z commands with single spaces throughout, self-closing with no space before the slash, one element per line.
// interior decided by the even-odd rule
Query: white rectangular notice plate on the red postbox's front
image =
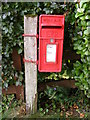
<path fill-rule="evenodd" d="M 56 44 L 48 44 L 46 49 L 46 62 L 56 62 Z"/>

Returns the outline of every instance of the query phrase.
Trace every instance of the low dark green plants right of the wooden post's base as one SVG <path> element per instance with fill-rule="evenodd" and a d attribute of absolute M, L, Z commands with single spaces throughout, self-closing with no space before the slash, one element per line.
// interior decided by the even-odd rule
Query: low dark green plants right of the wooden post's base
<path fill-rule="evenodd" d="M 77 115 L 83 112 L 87 116 L 89 99 L 86 99 L 84 93 L 79 89 L 66 89 L 59 86 L 51 88 L 47 86 L 44 92 L 39 93 L 38 107 L 41 115 L 47 115 L 53 112 L 54 114 L 61 114 L 63 112 L 63 116 L 64 114 L 66 116 L 66 113 L 70 109 L 72 111 L 76 109 Z"/>

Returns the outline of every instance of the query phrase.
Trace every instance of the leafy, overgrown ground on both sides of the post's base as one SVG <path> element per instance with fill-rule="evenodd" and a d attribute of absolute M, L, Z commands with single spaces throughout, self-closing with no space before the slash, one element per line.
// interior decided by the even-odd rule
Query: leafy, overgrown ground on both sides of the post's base
<path fill-rule="evenodd" d="M 64 91 L 63 91 L 64 90 Z M 66 91 L 67 93 L 66 93 Z M 65 92 L 65 93 L 64 93 Z M 63 93 L 63 94 L 62 94 Z M 78 93 L 78 94 L 77 94 Z M 7 118 L 55 118 L 59 120 L 65 118 L 67 120 L 90 118 L 90 102 L 81 91 L 67 90 L 65 88 L 49 88 L 38 94 L 38 110 L 36 114 L 26 114 L 26 103 L 19 100 L 7 101 L 7 106 L 3 111 L 3 119 Z M 60 96 L 59 96 L 60 95 Z M 9 97 L 9 96 L 8 96 Z M 9 97 L 10 98 L 10 97 Z M 58 99 L 57 99 L 58 98 Z M 5 98 L 4 98 L 5 99 Z M 6 100 L 6 99 L 5 99 Z M 3 120 L 2 119 L 2 120 Z"/>

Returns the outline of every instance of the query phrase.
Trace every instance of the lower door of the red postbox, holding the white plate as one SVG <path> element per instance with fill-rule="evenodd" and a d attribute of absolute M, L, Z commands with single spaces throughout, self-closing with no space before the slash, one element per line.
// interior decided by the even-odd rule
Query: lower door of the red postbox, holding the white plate
<path fill-rule="evenodd" d="M 58 41 L 58 42 L 57 42 Z M 41 41 L 41 53 L 39 54 L 40 72 L 60 72 L 62 66 L 62 40 L 50 43 L 50 40 Z"/>

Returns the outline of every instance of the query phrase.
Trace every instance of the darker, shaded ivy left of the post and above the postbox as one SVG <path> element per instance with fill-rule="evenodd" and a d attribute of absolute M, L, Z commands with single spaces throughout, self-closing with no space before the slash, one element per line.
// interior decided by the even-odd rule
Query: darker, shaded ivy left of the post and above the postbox
<path fill-rule="evenodd" d="M 40 14 L 64 14 L 67 11 L 72 11 L 74 3 L 57 3 L 57 2 L 31 2 L 31 3 L 2 3 L 2 81 L 3 87 L 8 88 L 10 84 L 22 85 L 24 71 L 17 71 L 13 66 L 12 50 L 14 47 L 18 48 L 18 54 L 23 55 L 23 37 L 24 33 L 24 15 L 40 15 Z M 74 9 L 73 9 L 74 11 Z M 70 24 L 70 16 L 65 18 L 65 44 L 66 48 L 70 47 L 71 38 L 69 38 L 68 26 Z M 69 37 L 68 37 L 69 36 Z M 59 79 L 69 78 L 71 75 L 71 68 L 67 67 L 66 61 L 63 62 L 63 69 L 61 73 L 38 73 L 38 81 L 44 79 Z"/>

